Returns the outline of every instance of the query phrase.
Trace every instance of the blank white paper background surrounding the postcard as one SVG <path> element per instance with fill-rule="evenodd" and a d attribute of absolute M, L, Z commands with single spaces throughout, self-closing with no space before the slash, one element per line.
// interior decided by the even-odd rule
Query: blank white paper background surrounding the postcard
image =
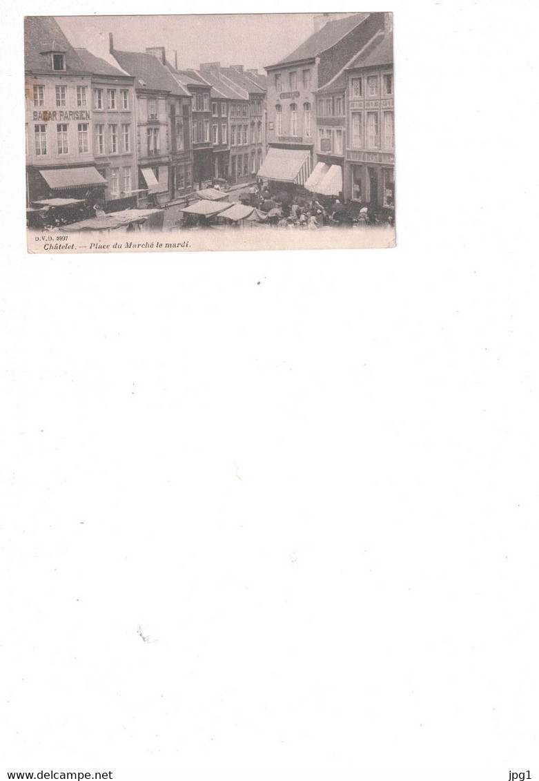
<path fill-rule="evenodd" d="M 392 3 L 395 250 L 27 255 L 23 13 L 109 10 L 227 8 L 2 10 L 0 769 L 537 779 L 535 4 Z"/>

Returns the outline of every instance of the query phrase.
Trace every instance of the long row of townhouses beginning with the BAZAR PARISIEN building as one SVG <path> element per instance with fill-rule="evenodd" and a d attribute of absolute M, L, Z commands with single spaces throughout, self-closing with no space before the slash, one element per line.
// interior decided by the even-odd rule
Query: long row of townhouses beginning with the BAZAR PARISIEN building
<path fill-rule="evenodd" d="M 109 210 L 187 198 L 218 178 L 252 181 L 266 149 L 266 77 L 243 66 L 182 70 L 165 48 L 73 48 L 52 17 L 25 20 L 27 201 Z"/>

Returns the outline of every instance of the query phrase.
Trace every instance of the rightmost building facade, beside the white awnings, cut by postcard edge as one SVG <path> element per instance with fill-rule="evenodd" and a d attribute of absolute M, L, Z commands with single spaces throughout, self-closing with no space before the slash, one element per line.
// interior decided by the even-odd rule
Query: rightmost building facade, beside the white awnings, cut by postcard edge
<path fill-rule="evenodd" d="M 395 114 L 391 20 L 346 69 L 346 198 L 395 209 Z"/>

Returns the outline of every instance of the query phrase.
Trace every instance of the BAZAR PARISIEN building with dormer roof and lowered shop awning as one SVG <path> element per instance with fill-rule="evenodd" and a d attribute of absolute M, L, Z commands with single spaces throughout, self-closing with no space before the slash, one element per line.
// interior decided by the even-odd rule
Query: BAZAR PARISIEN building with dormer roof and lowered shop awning
<path fill-rule="evenodd" d="M 24 21 L 27 205 L 97 200 L 107 182 L 95 167 L 91 73 L 52 17 Z"/>

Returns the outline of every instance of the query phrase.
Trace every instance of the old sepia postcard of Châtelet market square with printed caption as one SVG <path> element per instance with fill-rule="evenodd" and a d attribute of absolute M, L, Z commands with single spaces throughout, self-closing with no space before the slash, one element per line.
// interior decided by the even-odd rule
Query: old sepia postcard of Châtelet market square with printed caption
<path fill-rule="evenodd" d="M 391 12 L 28 16 L 30 252 L 395 245 Z"/>

